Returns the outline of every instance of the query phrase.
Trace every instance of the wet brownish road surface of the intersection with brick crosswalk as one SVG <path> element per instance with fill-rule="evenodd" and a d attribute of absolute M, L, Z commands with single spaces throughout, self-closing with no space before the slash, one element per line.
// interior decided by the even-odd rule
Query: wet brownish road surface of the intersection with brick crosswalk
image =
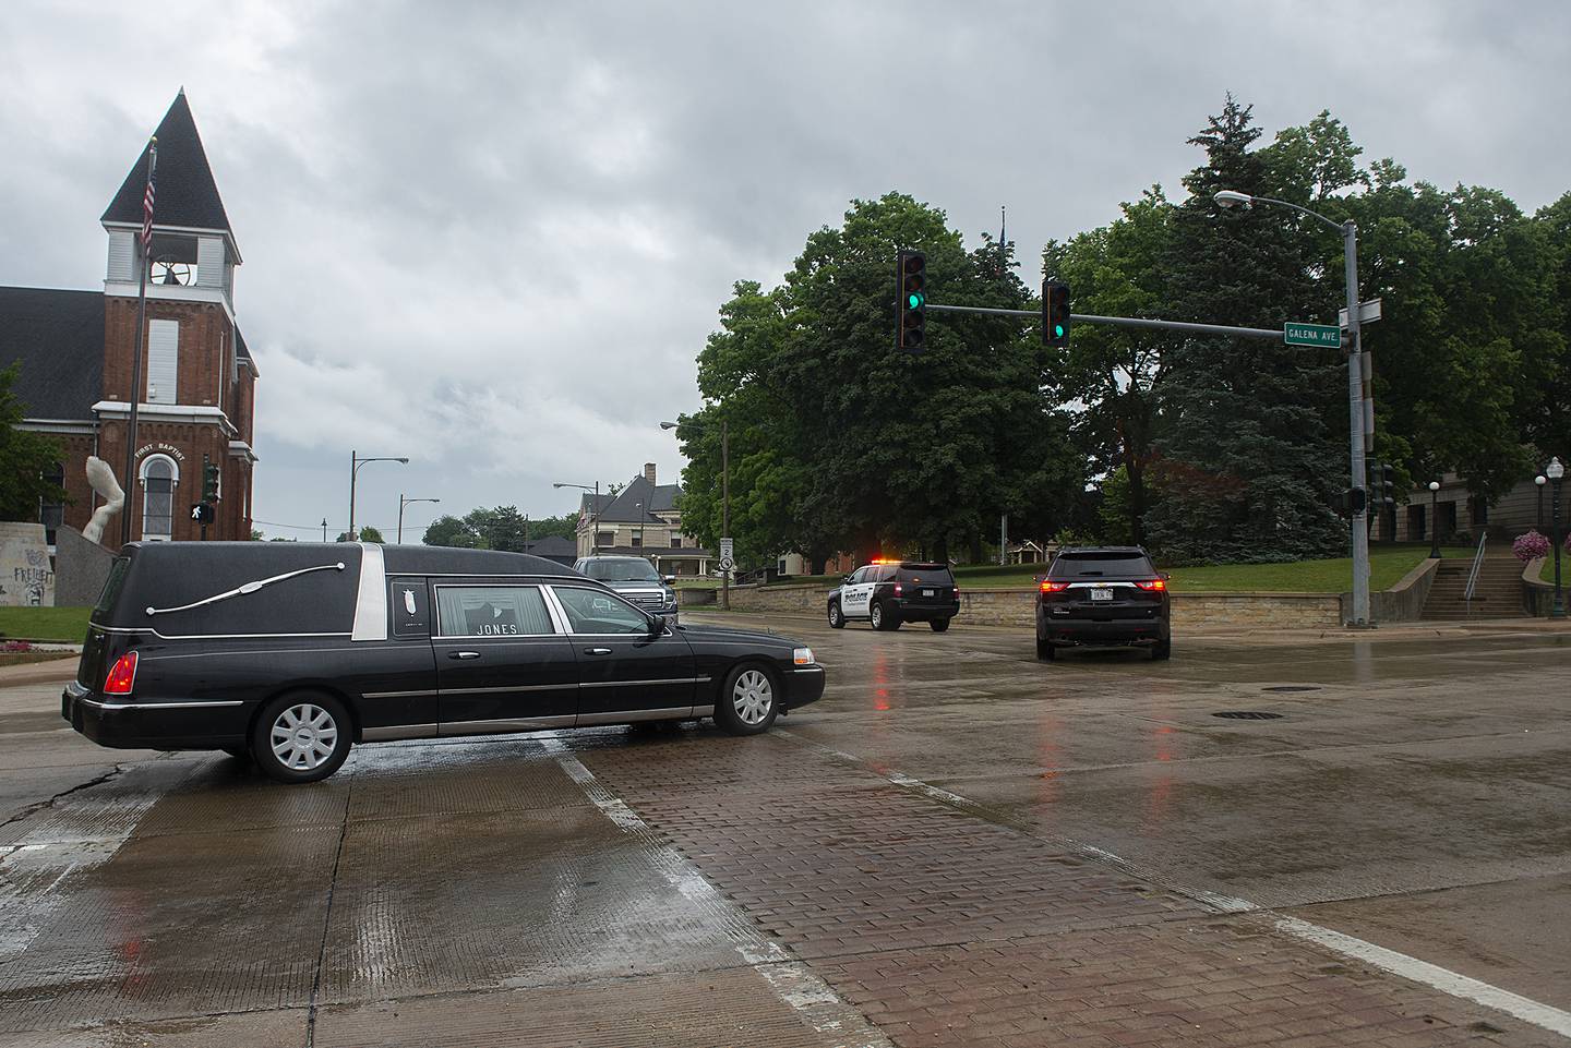
<path fill-rule="evenodd" d="M 1571 1043 L 1280 924 L 1552 1029 L 1571 633 L 776 628 L 829 688 L 767 737 L 369 745 L 311 787 L 0 682 L 0 1046 Z"/>

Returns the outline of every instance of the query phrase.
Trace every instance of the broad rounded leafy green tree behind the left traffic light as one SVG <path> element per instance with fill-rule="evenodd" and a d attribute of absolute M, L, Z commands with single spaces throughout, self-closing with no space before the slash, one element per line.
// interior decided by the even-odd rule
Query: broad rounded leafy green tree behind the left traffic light
<path fill-rule="evenodd" d="M 1001 317 L 935 313 L 927 352 L 894 349 L 894 259 L 927 253 L 935 302 L 1026 308 L 1009 245 L 966 251 L 944 214 L 889 193 L 807 237 L 781 288 L 738 283 L 699 355 L 683 520 L 718 537 L 720 423 L 745 555 L 979 545 L 1001 512 L 1051 512 L 1078 476 L 1043 394 L 1040 339 Z"/>

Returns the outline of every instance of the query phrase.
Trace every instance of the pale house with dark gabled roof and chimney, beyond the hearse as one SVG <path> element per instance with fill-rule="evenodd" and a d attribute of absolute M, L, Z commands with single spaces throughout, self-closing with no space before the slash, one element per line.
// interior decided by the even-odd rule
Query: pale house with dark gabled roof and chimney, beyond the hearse
<path fill-rule="evenodd" d="M 661 575 L 709 575 L 713 555 L 682 531 L 682 486 L 657 484 L 655 464 L 616 493 L 586 492 L 578 506 L 578 556 L 643 556 Z"/>

